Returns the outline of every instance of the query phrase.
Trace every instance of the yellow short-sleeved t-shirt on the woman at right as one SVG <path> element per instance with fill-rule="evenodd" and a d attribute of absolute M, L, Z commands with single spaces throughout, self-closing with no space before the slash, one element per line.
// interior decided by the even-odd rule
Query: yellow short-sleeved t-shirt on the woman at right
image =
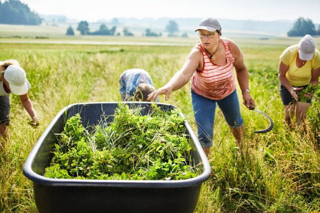
<path fill-rule="evenodd" d="M 289 66 L 286 78 L 295 87 L 308 85 L 311 80 L 312 69 L 320 67 L 320 53 L 317 49 L 311 60 L 308 60 L 302 67 L 297 67 L 296 59 L 298 51 L 299 45 L 292 45 L 280 55 L 281 61 Z"/>

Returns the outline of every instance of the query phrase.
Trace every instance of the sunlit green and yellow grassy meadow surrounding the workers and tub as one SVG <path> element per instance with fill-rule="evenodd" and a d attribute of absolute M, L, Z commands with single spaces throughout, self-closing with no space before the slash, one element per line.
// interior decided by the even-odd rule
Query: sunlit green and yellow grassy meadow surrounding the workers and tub
<path fill-rule="evenodd" d="M 132 41 L 123 37 L 100 39 Z M 183 65 L 196 41 L 162 38 L 160 42 L 185 45 L 138 46 L 1 43 L 4 40 L 17 39 L 0 39 L 0 60 L 15 58 L 26 70 L 32 87 L 29 97 L 40 125 L 37 128 L 28 125 L 29 117 L 19 97 L 11 95 L 10 139 L 0 146 L 0 213 L 37 212 L 32 182 L 24 177 L 22 169 L 34 144 L 63 107 L 120 101 L 119 76 L 129 68 L 147 70 L 159 88 Z M 256 108 L 273 119 L 274 128 L 265 134 L 253 133 L 265 128 L 268 121 L 241 105 L 246 145 L 241 155 L 222 112 L 216 111 L 214 145 L 208 158 L 212 174 L 202 185 L 195 212 L 320 212 L 320 97 L 315 97 L 304 129 L 290 131 L 282 123 L 279 55 L 289 45 L 298 43 L 299 38 L 234 40 L 244 55 Z M 320 38 L 316 40 L 319 47 Z M 239 88 L 238 94 L 241 102 Z M 160 101 L 191 115 L 190 82 L 172 93 L 168 101 L 164 97 Z M 196 132 L 193 116 L 188 121 Z"/>

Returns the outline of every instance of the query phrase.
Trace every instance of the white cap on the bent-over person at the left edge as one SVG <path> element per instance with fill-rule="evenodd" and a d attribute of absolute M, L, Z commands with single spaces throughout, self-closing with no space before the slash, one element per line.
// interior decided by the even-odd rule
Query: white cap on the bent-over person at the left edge
<path fill-rule="evenodd" d="M 19 96 L 27 94 L 29 86 L 25 71 L 22 67 L 9 65 L 5 69 L 3 77 L 9 83 L 10 90 L 13 94 Z"/>

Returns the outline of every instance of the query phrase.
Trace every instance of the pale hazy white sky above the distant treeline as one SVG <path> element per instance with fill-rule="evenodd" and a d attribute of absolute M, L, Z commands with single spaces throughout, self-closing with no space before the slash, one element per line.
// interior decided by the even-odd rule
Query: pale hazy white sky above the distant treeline
<path fill-rule="evenodd" d="M 3 0 L 1 0 L 3 2 Z M 94 22 L 112 18 L 290 20 L 320 24 L 320 0 L 20 0 L 40 15 Z"/>

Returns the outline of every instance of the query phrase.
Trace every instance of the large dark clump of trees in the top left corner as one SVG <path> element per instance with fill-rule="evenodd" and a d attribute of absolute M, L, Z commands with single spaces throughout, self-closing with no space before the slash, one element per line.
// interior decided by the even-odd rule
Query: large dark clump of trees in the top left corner
<path fill-rule="evenodd" d="M 19 0 L 0 1 L 0 23 L 1 24 L 25 24 L 39 25 L 42 19 L 40 16 L 31 12 L 27 4 Z"/>

